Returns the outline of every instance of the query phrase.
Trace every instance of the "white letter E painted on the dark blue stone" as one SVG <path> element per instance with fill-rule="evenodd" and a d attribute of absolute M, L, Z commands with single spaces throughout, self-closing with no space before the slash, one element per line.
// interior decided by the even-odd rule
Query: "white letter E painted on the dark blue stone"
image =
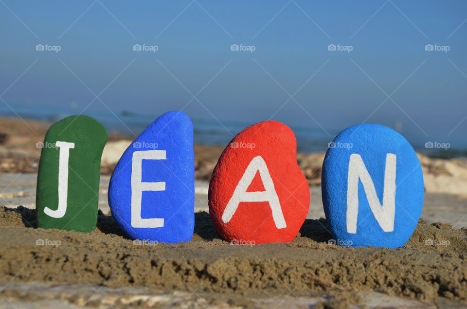
<path fill-rule="evenodd" d="M 143 191 L 165 191 L 165 182 L 142 182 L 143 160 L 165 160 L 165 150 L 141 150 L 133 152 L 131 167 L 131 226 L 163 227 L 163 218 L 141 218 Z"/>

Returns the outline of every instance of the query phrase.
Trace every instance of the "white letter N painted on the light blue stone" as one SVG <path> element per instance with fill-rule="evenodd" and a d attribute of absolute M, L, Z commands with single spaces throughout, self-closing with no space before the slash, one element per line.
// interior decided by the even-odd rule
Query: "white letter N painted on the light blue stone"
<path fill-rule="evenodd" d="M 359 215 L 359 179 L 363 184 L 371 212 L 384 232 L 394 231 L 396 156 L 386 154 L 384 169 L 383 205 L 379 203 L 375 185 L 359 154 L 350 155 L 347 178 L 347 233 L 357 233 Z"/>

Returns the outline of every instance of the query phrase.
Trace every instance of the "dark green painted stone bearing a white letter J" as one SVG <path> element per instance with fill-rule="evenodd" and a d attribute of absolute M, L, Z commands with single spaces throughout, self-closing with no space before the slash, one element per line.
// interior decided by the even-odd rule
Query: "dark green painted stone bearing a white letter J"
<path fill-rule="evenodd" d="M 107 138 L 107 130 L 98 121 L 83 115 L 67 117 L 49 128 L 40 145 L 37 174 L 39 228 L 94 231 Z"/>

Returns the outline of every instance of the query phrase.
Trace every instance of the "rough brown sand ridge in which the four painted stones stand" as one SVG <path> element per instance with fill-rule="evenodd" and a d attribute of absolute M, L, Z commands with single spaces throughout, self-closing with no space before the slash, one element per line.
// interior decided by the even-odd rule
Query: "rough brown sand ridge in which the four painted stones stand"
<path fill-rule="evenodd" d="M 83 234 L 37 229 L 35 210 L 4 207 L 0 281 L 222 293 L 233 301 L 324 293 L 334 296 L 326 306 L 337 308 L 358 304 L 361 291 L 467 303 L 467 229 L 420 220 L 406 246 L 381 249 L 328 244 L 325 226 L 307 219 L 290 243 L 232 245 L 200 212 L 192 241 L 151 244 L 130 240 L 102 212 L 96 230 Z"/>

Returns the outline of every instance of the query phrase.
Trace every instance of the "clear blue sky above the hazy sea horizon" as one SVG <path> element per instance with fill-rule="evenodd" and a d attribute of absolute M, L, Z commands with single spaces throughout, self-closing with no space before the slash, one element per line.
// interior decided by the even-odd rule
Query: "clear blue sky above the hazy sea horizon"
<path fill-rule="evenodd" d="M 0 105 L 330 135 L 370 122 L 466 148 L 466 18 L 464 0 L 1 0 Z"/>

